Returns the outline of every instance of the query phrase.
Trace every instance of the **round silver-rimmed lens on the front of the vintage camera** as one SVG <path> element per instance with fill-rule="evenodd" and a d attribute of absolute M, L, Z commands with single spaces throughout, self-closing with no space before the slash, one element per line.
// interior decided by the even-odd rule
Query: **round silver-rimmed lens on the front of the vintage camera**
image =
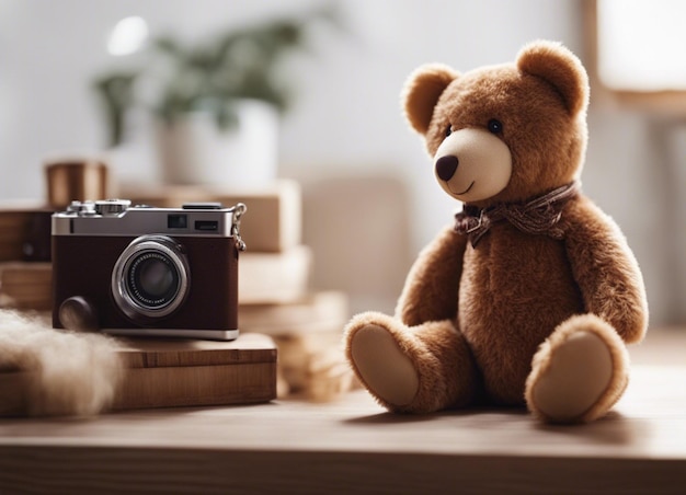
<path fill-rule="evenodd" d="M 165 235 L 141 235 L 121 254 L 112 274 L 112 293 L 134 321 L 167 316 L 183 302 L 190 281 L 181 246 Z"/>

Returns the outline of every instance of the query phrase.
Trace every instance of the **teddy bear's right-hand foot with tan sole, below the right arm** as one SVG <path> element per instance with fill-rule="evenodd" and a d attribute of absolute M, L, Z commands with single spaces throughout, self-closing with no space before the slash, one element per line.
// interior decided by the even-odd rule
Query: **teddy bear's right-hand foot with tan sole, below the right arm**
<path fill-rule="evenodd" d="M 540 346 L 526 382 L 529 410 L 549 423 L 585 423 L 605 415 L 624 393 L 626 346 L 593 314 L 572 316 Z"/>

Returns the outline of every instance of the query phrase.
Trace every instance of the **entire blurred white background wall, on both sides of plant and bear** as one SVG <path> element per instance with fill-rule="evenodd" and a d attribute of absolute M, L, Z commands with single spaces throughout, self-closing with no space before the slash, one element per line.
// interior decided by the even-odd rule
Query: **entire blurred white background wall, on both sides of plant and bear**
<path fill-rule="evenodd" d="M 104 142 L 89 79 L 112 60 L 104 39 L 138 14 L 153 34 L 201 36 L 225 25 L 318 4 L 317 0 L 0 0 L 0 199 L 41 197 L 42 159 Z M 410 187 L 416 251 L 450 221 L 456 205 L 430 172 L 423 145 L 402 119 L 399 93 L 427 61 L 460 70 L 511 60 L 533 38 L 582 53 L 578 0 L 343 0 L 347 33 L 320 32 L 313 57 L 295 60 L 299 97 L 283 122 L 282 175 L 307 180 L 388 173 Z M 660 176 L 651 128 L 640 115 L 591 114 L 584 186 L 627 231 L 643 264 L 653 321 L 674 314 Z M 654 133 L 653 133 L 654 134 Z M 145 164 L 150 170 L 153 163 Z M 150 175 L 150 170 L 139 170 Z M 658 169 L 661 170 L 661 169 Z M 116 172 L 116 171 L 115 171 Z M 122 171 L 132 173 L 132 170 Z M 659 198 L 660 200 L 651 200 Z M 683 229 L 683 226 L 678 228 Z M 673 287 L 673 286 L 672 286 Z M 670 302 L 672 301 L 672 302 Z"/>

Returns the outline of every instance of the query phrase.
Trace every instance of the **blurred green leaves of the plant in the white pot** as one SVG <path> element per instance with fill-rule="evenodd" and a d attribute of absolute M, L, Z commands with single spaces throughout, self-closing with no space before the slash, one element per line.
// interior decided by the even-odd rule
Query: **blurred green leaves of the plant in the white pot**
<path fill-rule="evenodd" d="M 168 123 L 188 112 L 209 112 L 217 126 L 237 123 L 233 102 L 262 100 L 285 111 L 291 88 L 284 71 L 287 56 L 302 50 L 315 21 L 335 24 L 327 7 L 298 19 L 282 19 L 230 30 L 196 44 L 158 36 L 137 69 L 95 81 L 104 102 L 110 146 L 122 142 L 126 112 L 146 106 Z"/>

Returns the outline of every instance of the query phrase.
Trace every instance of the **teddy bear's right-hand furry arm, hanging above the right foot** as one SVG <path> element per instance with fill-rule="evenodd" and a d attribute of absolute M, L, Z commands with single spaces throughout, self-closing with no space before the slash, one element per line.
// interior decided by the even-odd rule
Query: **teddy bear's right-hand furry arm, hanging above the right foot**
<path fill-rule="evenodd" d="M 638 262 L 615 221 L 587 198 L 565 209 L 567 252 L 586 310 L 609 322 L 625 342 L 648 327 L 648 302 Z"/>

